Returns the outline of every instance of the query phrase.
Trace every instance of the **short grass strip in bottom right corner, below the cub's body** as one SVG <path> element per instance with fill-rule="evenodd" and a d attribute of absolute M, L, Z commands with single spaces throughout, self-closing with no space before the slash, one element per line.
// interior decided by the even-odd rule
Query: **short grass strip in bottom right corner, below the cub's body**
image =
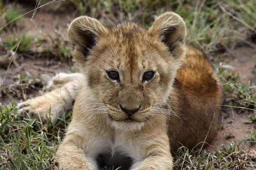
<path fill-rule="evenodd" d="M 174 163 L 176 170 L 230 170 L 255 167 L 255 153 L 246 153 L 239 149 L 239 145 L 232 142 L 230 145 L 215 147 L 213 152 L 189 150 L 181 147 L 177 151 Z"/>

